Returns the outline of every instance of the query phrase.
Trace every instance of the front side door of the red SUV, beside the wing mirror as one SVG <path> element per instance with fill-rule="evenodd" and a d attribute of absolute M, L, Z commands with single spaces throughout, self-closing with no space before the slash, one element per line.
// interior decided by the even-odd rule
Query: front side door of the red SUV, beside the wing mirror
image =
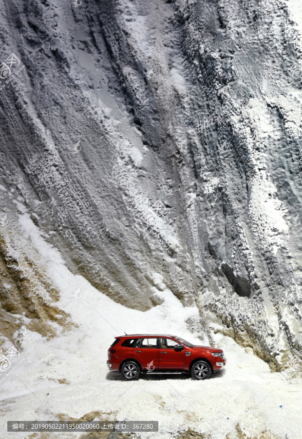
<path fill-rule="evenodd" d="M 185 349 L 175 351 L 174 346 L 179 344 L 179 341 L 167 337 L 159 339 L 159 369 L 184 369 L 185 368 Z"/>

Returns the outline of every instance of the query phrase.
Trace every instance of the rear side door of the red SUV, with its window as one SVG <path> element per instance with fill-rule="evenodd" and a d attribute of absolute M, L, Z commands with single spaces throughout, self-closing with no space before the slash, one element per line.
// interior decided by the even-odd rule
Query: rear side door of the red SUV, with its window
<path fill-rule="evenodd" d="M 143 370 L 152 372 L 158 369 L 158 346 L 156 337 L 142 338 L 135 342 L 132 356 Z"/>

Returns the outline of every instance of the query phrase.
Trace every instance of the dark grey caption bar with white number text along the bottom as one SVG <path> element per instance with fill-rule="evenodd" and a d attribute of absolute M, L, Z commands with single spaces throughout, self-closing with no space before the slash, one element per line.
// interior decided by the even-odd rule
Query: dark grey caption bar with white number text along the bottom
<path fill-rule="evenodd" d="M 158 421 L 7 421 L 7 431 L 158 431 Z"/>

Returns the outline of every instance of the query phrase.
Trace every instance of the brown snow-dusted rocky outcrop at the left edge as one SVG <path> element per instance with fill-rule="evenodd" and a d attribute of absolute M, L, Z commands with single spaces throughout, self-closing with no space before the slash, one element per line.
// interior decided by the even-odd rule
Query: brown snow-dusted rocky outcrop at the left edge
<path fill-rule="evenodd" d="M 11 201 L 5 193 L 3 199 L 7 205 Z M 28 331 L 49 339 L 73 323 L 54 305 L 59 294 L 46 274 L 47 260 L 24 236 L 17 218 L 15 207 L 0 227 L 0 346 L 9 340 L 19 349 Z"/>

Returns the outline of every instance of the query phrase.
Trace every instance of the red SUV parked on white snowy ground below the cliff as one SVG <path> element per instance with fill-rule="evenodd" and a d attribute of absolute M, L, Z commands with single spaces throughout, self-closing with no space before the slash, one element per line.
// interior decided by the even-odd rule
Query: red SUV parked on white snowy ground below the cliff
<path fill-rule="evenodd" d="M 107 366 L 129 381 L 142 372 L 187 372 L 194 379 L 209 378 L 226 364 L 221 349 L 197 346 L 171 335 L 132 334 L 115 337 Z"/>

